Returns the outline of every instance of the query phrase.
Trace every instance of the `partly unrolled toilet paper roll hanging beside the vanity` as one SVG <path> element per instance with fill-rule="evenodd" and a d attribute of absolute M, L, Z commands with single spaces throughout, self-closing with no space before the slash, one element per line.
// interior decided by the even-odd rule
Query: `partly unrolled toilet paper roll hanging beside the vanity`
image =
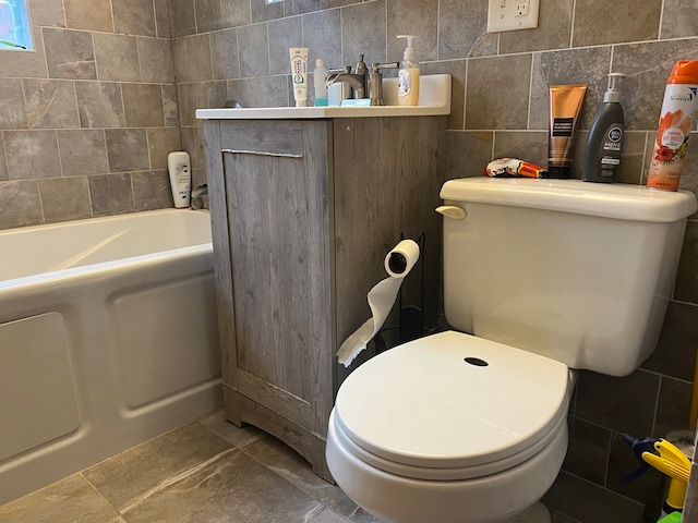
<path fill-rule="evenodd" d="M 351 362 L 383 327 L 385 318 L 388 317 L 395 304 L 402 280 L 412 270 L 418 259 L 419 245 L 413 240 L 402 240 L 387 254 L 384 266 L 388 278 L 378 281 L 366 295 L 372 317 L 347 338 L 337 351 L 337 360 L 345 367 L 351 365 Z"/>

